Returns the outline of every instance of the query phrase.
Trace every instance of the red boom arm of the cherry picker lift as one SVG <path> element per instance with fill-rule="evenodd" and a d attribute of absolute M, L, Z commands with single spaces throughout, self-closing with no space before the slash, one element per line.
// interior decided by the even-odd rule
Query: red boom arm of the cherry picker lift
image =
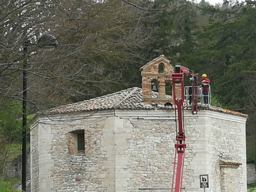
<path fill-rule="evenodd" d="M 173 192 L 173 185 L 175 179 L 174 192 L 182 191 L 182 177 L 183 167 L 185 159 L 185 128 L 184 128 L 184 76 L 191 75 L 192 80 L 192 114 L 198 112 L 198 74 L 193 73 L 189 68 L 182 65 L 176 65 L 174 72 L 172 73 L 173 83 L 173 100 L 175 106 L 175 118 L 176 118 L 176 143 L 175 143 L 175 155 L 173 165 L 173 178 L 171 182 L 171 192 Z M 177 93 L 177 88 L 181 89 L 180 93 Z"/>

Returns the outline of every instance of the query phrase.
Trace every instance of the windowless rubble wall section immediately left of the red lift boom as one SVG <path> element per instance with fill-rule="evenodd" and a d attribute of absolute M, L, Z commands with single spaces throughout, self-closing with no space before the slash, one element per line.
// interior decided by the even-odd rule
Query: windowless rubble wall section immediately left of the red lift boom
<path fill-rule="evenodd" d="M 123 121 L 124 130 L 130 127 L 130 137 L 126 139 L 127 149 L 123 153 L 118 153 L 120 159 L 127 158 L 126 165 L 121 167 L 120 173 L 124 170 L 129 172 L 127 182 L 119 183 L 123 190 L 118 191 L 138 191 L 139 188 L 162 188 L 161 191 L 170 191 L 174 157 L 174 121 L 135 118 Z"/>

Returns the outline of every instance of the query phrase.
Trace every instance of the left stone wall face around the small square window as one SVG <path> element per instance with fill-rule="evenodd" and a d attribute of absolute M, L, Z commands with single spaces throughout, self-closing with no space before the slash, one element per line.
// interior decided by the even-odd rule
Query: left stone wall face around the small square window
<path fill-rule="evenodd" d="M 106 191 L 107 184 L 104 184 L 104 180 L 107 180 L 110 171 L 104 168 L 107 153 L 101 146 L 106 119 L 46 121 L 45 124 L 34 127 L 32 131 L 35 133 L 39 130 L 41 134 L 38 140 L 32 139 L 32 150 L 36 147 L 35 143 L 40 143 L 39 156 L 33 155 L 32 158 L 35 162 L 32 163 L 32 175 L 35 177 L 32 179 L 32 191 Z M 86 133 L 85 153 L 68 153 L 67 134 L 82 129 Z M 32 137 L 34 136 L 32 134 Z M 108 161 L 108 164 L 111 164 L 111 161 Z M 111 178 L 108 180 L 111 181 Z"/>

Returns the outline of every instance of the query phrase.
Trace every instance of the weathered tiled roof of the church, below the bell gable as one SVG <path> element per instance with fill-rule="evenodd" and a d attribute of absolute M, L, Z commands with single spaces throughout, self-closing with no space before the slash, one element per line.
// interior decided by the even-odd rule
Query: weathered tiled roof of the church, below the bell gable
<path fill-rule="evenodd" d="M 152 92 L 152 97 L 157 98 L 158 93 Z M 67 114 L 73 112 L 83 112 L 83 111 L 94 111 L 94 110 L 106 110 L 106 109 L 174 109 L 173 106 L 167 105 L 157 105 L 152 103 L 152 105 L 145 105 L 142 100 L 142 89 L 139 87 L 132 87 L 129 89 L 121 90 L 119 92 L 111 93 L 105 96 L 95 97 L 93 99 L 84 100 L 82 102 L 72 103 L 68 105 L 59 106 L 57 108 L 49 109 L 46 114 Z M 216 108 L 210 106 L 208 108 L 202 108 L 210 111 L 222 112 L 225 114 L 237 115 L 240 117 L 248 117 L 246 114 L 241 112 L 235 112 L 228 109 Z M 189 109 L 191 110 L 191 109 Z"/>

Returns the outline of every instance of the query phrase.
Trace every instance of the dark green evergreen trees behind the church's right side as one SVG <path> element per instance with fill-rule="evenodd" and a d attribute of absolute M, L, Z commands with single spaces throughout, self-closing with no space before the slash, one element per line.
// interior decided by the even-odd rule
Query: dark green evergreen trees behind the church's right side
<path fill-rule="evenodd" d="M 197 33 L 192 64 L 199 73 L 210 76 L 213 93 L 223 107 L 249 115 L 246 134 L 255 136 L 255 5 L 204 8 L 214 14 L 211 23 Z"/>

